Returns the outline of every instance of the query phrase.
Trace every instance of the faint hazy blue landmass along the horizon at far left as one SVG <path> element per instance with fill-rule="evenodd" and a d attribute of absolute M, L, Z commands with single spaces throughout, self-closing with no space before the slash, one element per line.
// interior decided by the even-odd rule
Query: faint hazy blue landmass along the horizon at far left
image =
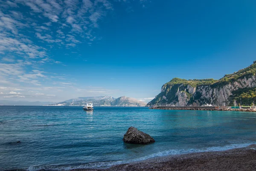
<path fill-rule="evenodd" d="M 0 100 L 0 105 L 17 105 L 17 106 L 43 106 L 47 104 L 53 104 L 50 101 L 9 101 Z"/>

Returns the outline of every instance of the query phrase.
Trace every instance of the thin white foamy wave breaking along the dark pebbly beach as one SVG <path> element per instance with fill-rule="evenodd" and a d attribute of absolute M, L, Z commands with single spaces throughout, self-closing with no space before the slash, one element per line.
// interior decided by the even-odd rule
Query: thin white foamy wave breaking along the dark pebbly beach
<path fill-rule="evenodd" d="M 247 147 L 248 145 L 256 144 L 256 142 L 243 143 L 243 144 L 230 144 L 225 146 L 218 147 L 208 147 L 208 148 L 189 148 L 189 149 L 172 149 L 161 151 L 158 153 L 154 153 L 145 157 L 140 157 L 137 159 L 123 160 L 123 161 L 105 161 L 105 162 L 91 162 L 85 163 L 82 165 L 52 165 L 52 166 L 30 166 L 27 171 L 67 171 L 71 169 L 82 169 L 82 168 L 109 168 L 113 165 L 131 163 L 131 162 L 139 162 L 146 159 L 151 159 L 154 157 L 165 157 L 169 155 L 177 155 L 177 154 L 190 154 L 190 153 L 198 153 L 198 152 L 207 152 L 207 151 L 225 151 L 233 148 L 242 148 Z"/>

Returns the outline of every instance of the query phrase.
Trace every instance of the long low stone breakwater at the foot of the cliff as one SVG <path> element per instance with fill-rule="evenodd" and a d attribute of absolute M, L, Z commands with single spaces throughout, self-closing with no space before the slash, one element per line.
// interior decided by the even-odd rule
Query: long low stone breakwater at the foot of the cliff
<path fill-rule="evenodd" d="M 216 111 L 241 111 L 241 112 L 256 112 L 256 109 L 231 109 L 227 107 L 218 107 L 218 106 L 210 106 L 210 107 L 204 107 L 204 106 L 184 106 L 184 107 L 178 107 L 178 106 L 154 106 L 150 107 L 149 109 L 161 109 L 161 110 L 216 110 Z"/>

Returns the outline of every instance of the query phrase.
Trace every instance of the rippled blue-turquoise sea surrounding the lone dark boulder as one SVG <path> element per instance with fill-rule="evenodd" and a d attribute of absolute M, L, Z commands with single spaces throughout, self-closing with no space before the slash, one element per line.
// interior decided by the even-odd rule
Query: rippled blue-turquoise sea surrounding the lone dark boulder
<path fill-rule="evenodd" d="M 150 145 L 122 141 L 130 126 Z M 20 143 L 16 143 L 20 141 Z M 0 170 L 109 167 L 151 157 L 256 143 L 256 113 L 147 107 L 0 106 Z"/>

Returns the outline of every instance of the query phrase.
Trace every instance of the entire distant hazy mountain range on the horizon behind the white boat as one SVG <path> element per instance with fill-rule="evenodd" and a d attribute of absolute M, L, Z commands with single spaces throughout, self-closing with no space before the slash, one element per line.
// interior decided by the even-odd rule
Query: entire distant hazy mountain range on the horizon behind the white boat
<path fill-rule="evenodd" d="M 93 103 L 94 106 L 145 106 L 146 103 L 134 98 L 126 96 L 117 99 L 112 96 L 98 96 L 98 97 L 78 97 L 69 99 L 56 104 L 54 106 L 84 106 L 87 103 Z"/>

